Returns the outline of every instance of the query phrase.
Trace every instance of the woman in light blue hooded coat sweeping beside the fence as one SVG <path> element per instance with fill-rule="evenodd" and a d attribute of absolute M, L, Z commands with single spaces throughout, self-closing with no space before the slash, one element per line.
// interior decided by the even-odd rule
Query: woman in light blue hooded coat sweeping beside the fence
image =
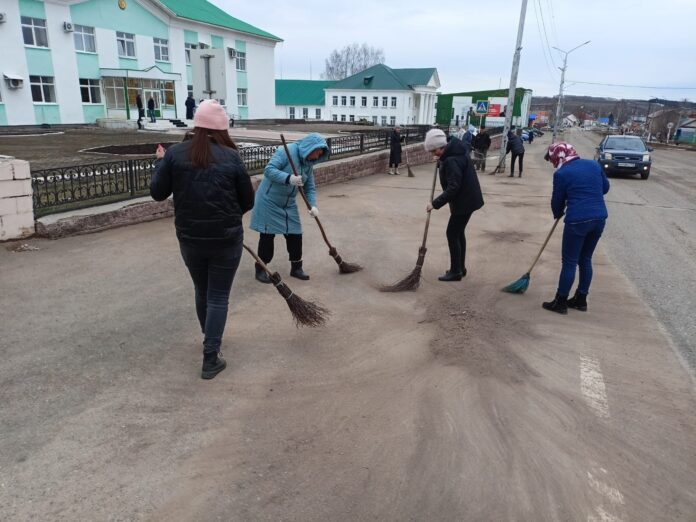
<path fill-rule="evenodd" d="M 288 150 L 298 174 L 293 174 L 284 147 L 278 147 L 266 165 L 263 181 L 256 190 L 251 228 L 261 234 L 258 254 L 265 264 L 273 259 L 275 235 L 283 234 L 290 257 L 290 275 L 306 281 L 309 275 L 302 269 L 302 223 L 296 197 L 300 189 L 304 190 L 312 206 L 310 215 L 319 215 L 314 166 L 328 159 L 329 147 L 319 134 L 311 133 L 288 145 Z M 261 283 L 271 283 L 259 264 L 256 265 L 256 279 Z"/>

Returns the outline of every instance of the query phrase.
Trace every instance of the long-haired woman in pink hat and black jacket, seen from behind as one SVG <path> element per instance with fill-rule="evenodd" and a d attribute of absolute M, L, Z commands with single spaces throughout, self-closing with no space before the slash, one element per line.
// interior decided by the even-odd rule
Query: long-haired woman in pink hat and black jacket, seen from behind
<path fill-rule="evenodd" d="M 227 113 L 216 100 L 200 105 L 193 137 L 157 148 L 150 195 L 174 194 L 174 226 L 195 290 L 203 332 L 201 377 L 225 369 L 220 346 L 230 290 L 242 257 L 242 215 L 254 206 L 254 189 L 237 147 L 227 133 Z"/>

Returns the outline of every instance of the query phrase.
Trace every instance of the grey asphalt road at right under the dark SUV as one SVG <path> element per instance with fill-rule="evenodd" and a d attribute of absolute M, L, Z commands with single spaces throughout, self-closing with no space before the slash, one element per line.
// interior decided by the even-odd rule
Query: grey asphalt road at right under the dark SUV
<path fill-rule="evenodd" d="M 566 136 L 584 157 L 601 137 Z M 638 288 L 696 378 L 696 152 L 653 151 L 650 177 L 611 178 L 602 244 Z"/>

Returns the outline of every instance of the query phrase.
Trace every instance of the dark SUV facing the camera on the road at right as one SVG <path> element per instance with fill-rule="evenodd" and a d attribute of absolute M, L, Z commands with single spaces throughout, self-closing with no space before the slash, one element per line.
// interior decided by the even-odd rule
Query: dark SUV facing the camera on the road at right
<path fill-rule="evenodd" d="M 607 176 L 640 174 L 641 179 L 648 179 L 652 165 L 652 150 L 638 136 L 611 135 L 599 144 L 595 159 Z"/>

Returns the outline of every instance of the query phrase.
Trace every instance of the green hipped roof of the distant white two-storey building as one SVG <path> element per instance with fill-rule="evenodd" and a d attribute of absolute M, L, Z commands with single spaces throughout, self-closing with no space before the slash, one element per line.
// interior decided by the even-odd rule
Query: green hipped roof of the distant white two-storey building
<path fill-rule="evenodd" d="M 334 83 L 332 89 L 410 91 L 416 85 L 427 85 L 435 68 L 392 69 L 382 63 L 368 67 L 353 76 Z"/>

